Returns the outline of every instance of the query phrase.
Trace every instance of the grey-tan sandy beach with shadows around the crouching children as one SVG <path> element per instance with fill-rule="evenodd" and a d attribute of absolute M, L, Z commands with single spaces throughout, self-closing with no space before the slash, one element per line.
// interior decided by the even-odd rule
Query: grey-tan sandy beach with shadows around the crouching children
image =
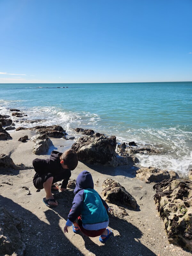
<path fill-rule="evenodd" d="M 18 141 L 28 135 L 26 143 Z M 113 236 L 106 244 L 99 242 L 99 237 L 89 238 L 83 234 L 74 234 L 72 228 L 64 234 L 63 228 L 68 212 L 72 205 L 73 190 L 55 192 L 58 206 L 50 209 L 43 202 L 44 190 L 37 192 L 33 186 L 32 160 L 36 157 L 47 158 L 52 149 L 63 152 L 69 147 L 68 141 L 52 140 L 52 147 L 47 155 L 36 156 L 32 153 L 34 142 L 30 138 L 35 135 L 29 130 L 12 132 L 12 140 L 0 141 L 1 153 L 9 155 L 15 164 L 24 164 L 26 170 L 2 170 L 0 183 L 0 205 L 23 220 L 21 239 L 26 244 L 26 256 L 38 255 L 137 255 L 137 256 L 188 256 L 182 248 L 169 244 L 163 221 L 156 210 L 153 196 L 154 183 L 146 184 L 135 178 L 133 169 L 127 166 L 106 167 L 102 165 L 85 165 L 81 162 L 74 171 L 71 179 L 87 170 L 91 172 L 95 189 L 102 192 L 102 183 L 107 178 L 118 181 L 135 197 L 139 208 L 137 210 L 121 208 L 109 204 L 113 209 L 109 217 L 109 227 Z M 30 195 L 27 195 L 27 187 Z"/>

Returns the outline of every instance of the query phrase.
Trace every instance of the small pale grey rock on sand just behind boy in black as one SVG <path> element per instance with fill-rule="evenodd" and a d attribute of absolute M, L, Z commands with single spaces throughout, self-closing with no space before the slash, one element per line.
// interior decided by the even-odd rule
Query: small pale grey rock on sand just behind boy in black
<path fill-rule="evenodd" d="M 49 144 L 51 140 L 47 137 L 47 134 L 35 135 L 31 138 L 35 142 L 33 146 L 33 153 L 35 155 L 40 155 L 45 153 L 49 149 Z"/>

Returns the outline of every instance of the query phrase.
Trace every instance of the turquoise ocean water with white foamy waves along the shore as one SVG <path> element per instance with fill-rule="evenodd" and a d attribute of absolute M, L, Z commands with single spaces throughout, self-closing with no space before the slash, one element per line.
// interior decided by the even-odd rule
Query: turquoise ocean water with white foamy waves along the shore
<path fill-rule="evenodd" d="M 161 155 L 138 155 L 140 164 L 187 175 L 192 168 L 191 96 L 192 82 L 0 84 L 0 113 L 19 108 L 28 119 L 60 124 L 71 134 L 80 127 L 115 135 L 118 142 L 163 148 Z"/>

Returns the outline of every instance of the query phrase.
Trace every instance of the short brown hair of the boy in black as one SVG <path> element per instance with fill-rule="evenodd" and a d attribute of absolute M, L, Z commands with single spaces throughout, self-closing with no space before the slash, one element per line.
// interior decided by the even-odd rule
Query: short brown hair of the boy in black
<path fill-rule="evenodd" d="M 69 170 L 74 170 L 78 164 L 78 156 L 75 150 L 68 149 L 61 155 L 61 160 L 67 165 Z"/>

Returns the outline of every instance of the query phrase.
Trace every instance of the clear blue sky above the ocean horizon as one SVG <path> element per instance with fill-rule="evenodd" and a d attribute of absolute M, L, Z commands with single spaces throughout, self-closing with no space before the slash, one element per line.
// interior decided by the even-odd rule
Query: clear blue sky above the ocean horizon
<path fill-rule="evenodd" d="M 192 81 L 191 0 L 0 0 L 0 83 Z"/>

